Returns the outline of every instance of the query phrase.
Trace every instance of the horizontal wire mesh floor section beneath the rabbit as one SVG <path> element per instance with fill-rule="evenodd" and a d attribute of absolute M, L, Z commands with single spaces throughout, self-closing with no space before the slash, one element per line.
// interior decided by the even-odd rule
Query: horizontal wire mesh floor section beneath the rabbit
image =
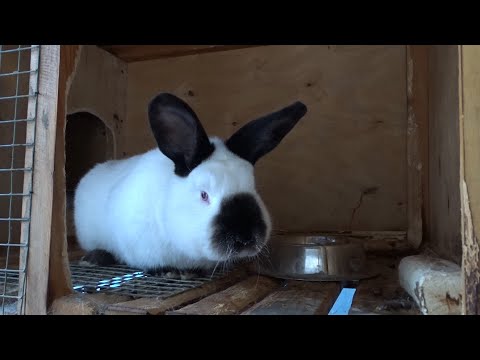
<path fill-rule="evenodd" d="M 163 299 L 196 288 L 225 276 L 227 271 L 216 271 L 210 277 L 194 277 L 189 280 L 150 275 L 123 265 L 110 267 L 70 264 L 73 289 L 80 293 L 112 293 L 133 298 Z"/>

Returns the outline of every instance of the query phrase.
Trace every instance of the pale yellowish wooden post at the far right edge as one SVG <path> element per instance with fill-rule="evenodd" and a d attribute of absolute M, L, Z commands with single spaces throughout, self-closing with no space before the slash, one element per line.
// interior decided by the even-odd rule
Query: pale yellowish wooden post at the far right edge
<path fill-rule="evenodd" d="M 461 46 L 463 313 L 480 314 L 480 47 Z"/>

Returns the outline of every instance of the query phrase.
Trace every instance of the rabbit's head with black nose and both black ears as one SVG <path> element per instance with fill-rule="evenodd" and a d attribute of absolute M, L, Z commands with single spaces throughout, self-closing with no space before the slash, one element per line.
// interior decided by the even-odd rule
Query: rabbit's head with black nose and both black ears
<path fill-rule="evenodd" d="M 306 112 L 304 104 L 295 102 L 223 141 L 207 136 L 183 100 L 168 93 L 153 98 L 150 126 L 160 151 L 173 163 L 167 203 L 161 205 L 172 246 L 209 261 L 257 255 L 272 225 L 255 187 L 254 165 Z"/>

